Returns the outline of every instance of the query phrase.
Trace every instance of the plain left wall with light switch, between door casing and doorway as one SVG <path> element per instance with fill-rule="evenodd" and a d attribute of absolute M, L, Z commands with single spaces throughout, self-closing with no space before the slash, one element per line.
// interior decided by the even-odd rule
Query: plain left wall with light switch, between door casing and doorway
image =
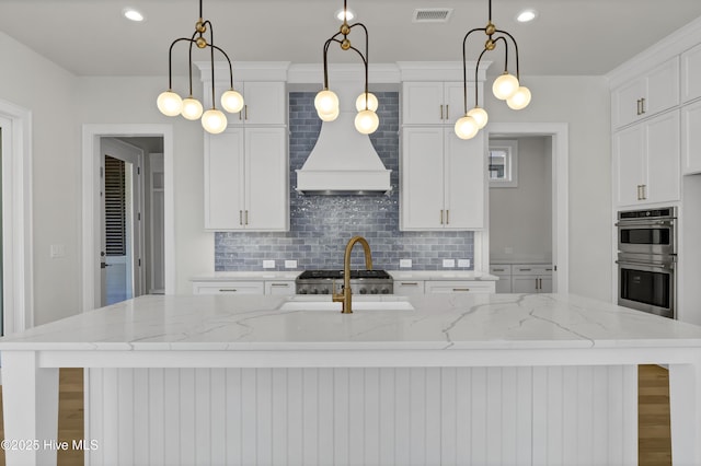
<path fill-rule="evenodd" d="M 72 74 L 0 33 L 0 98 L 32 113 L 34 323 L 76 313 L 80 286 L 80 129 Z M 51 259 L 51 244 L 66 256 Z"/>

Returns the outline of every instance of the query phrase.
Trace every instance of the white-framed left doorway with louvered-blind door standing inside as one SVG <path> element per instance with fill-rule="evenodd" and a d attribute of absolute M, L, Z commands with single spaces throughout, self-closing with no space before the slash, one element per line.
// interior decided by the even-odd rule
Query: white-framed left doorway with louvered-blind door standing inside
<path fill-rule="evenodd" d="M 169 125 L 83 126 L 83 311 L 146 293 L 172 293 L 172 140 Z M 159 170 L 156 202 L 149 197 L 153 166 Z M 105 180 L 116 190 L 111 209 L 102 195 Z"/>

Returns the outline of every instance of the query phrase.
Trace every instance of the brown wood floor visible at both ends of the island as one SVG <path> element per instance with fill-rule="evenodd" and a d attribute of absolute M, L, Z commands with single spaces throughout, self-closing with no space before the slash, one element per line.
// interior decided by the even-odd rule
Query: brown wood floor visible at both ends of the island
<path fill-rule="evenodd" d="M 58 441 L 83 439 L 83 372 L 82 369 L 60 370 L 58 406 Z M 1 397 L 0 397 L 1 399 Z M 0 415 L 2 404 L 0 403 Z M 0 416 L 0 420 L 1 420 Z M 0 424 L 0 438 L 4 429 Z M 669 435 L 669 378 L 657 365 L 641 365 L 639 371 L 639 462 L 640 466 L 671 465 Z M 59 451 L 59 466 L 83 464 L 82 451 Z M 0 448 L 0 465 L 4 452 Z"/>

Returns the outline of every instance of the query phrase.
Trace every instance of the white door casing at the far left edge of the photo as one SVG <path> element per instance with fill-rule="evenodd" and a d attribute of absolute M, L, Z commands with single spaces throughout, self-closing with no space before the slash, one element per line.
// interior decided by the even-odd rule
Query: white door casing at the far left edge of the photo
<path fill-rule="evenodd" d="M 11 124 L 2 155 L 2 327 L 10 335 L 34 326 L 32 113 L 0 100 L 0 117 Z"/>

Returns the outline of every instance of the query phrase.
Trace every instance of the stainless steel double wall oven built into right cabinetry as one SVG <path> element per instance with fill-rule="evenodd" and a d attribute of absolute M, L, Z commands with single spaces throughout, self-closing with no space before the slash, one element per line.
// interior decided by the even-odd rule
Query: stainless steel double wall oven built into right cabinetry
<path fill-rule="evenodd" d="M 677 209 L 618 212 L 618 303 L 676 318 Z"/>

